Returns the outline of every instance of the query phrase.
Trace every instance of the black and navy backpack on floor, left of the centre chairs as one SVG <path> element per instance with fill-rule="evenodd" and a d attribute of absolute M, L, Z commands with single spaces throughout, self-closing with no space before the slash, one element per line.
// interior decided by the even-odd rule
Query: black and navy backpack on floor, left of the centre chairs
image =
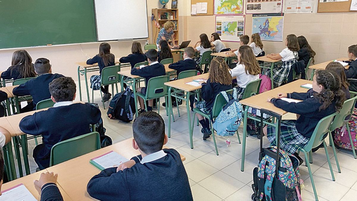
<path fill-rule="evenodd" d="M 131 122 L 135 113 L 135 99 L 132 90 L 127 87 L 125 91 L 117 93 L 111 99 L 107 115 L 111 114 L 112 117 L 124 122 Z"/>

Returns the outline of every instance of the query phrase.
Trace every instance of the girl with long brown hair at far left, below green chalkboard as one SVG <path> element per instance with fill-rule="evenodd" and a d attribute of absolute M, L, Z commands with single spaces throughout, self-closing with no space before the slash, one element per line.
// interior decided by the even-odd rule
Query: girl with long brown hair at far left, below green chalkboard
<path fill-rule="evenodd" d="M 16 50 L 12 54 L 11 66 L 1 73 L 2 79 L 22 79 L 35 77 L 32 58 L 26 50 Z"/>

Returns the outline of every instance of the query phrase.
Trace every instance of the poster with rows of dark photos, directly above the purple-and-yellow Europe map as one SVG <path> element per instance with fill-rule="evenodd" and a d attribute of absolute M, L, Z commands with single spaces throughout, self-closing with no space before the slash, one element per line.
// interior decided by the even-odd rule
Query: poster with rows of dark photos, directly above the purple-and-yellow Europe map
<path fill-rule="evenodd" d="M 282 0 L 247 0 L 246 14 L 281 13 L 282 8 Z"/>

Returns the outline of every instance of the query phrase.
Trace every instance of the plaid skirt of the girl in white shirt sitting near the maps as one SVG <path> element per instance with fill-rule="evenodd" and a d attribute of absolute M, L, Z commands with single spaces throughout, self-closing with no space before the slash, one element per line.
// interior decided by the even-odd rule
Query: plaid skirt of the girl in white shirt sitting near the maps
<path fill-rule="evenodd" d="M 296 62 L 297 62 L 296 59 L 291 59 L 291 60 L 282 62 L 282 64 L 280 66 L 278 66 L 277 68 L 273 68 L 274 88 L 280 87 L 280 85 L 287 80 L 291 66 Z M 266 71 L 266 75 L 268 77 L 270 77 L 270 70 Z"/>

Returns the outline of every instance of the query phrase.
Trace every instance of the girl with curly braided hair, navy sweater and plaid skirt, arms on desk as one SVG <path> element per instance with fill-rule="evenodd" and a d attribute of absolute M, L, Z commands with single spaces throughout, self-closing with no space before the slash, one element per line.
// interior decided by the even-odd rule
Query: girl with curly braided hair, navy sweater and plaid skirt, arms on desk
<path fill-rule="evenodd" d="M 310 93 L 280 93 L 278 98 L 268 98 L 267 101 L 286 112 L 300 114 L 297 120 L 281 121 L 280 147 L 294 154 L 309 142 L 317 123 L 324 117 L 339 111 L 346 100 L 345 93 L 340 88 L 340 78 L 335 72 L 319 70 L 313 77 L 312 88 L 316 95 Z M 301 102 L 287 102 L 280 98 L 292 98 Z M 275 146 L 275 126 L 266 126 L 263 129 L 265 136 Z"/>

